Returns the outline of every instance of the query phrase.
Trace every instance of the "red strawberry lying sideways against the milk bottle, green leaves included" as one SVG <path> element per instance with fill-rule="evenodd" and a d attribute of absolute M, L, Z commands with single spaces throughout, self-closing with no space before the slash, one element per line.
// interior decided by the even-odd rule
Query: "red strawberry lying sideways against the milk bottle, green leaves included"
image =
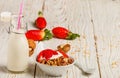
<path fill-rule="evenodd" d="M 52 34 L 48 29 L 45 30 L 28 30 L 26 32 L 27 39 L 32 39 L 35 41 L 49 40 L 52 38 Z"/>

